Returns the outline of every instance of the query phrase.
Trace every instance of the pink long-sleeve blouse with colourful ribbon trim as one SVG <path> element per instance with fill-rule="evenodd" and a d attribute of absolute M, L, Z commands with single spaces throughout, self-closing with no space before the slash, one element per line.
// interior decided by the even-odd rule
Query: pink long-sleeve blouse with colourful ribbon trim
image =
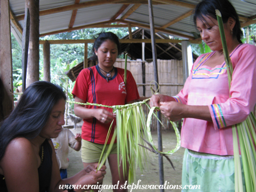
<path fill-rule="evenodd" d="M 181 146 L 217 155 L 233 155 L 231 125 L 242 122 L 256 103 L 256 46 L 240 44 L 230 54 L 233 76 L 229 90 L 226 63 L 210 68 L 206 53 L 195 61 L 183 89 L 174 97 L 186 105 L 207 105 L 212 121 L 185 118 Z"/>

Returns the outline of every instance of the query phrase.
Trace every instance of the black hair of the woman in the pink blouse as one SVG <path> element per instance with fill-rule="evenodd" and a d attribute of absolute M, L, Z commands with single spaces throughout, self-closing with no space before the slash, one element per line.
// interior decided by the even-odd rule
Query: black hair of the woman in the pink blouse
<path fill-rule="evenodd" d="M 204 20 L 203 16 L 211 16 L 214 19 L 217 19 L 215 13 L 216 9 L 220 11 L 223 23 L 227 23 L 230 17 L 235 19 L 236 24 L 233 28 L 233 37 L 237 38 L 239 43 L 242 43 L 241 37 L 243 36 L 243 32 L 241 30 L 239 17 L 235 8 L 228 0 L 204 0 L 200 2 L 194 11 L 195 25 L 197 23 L 197 19 Z"/>

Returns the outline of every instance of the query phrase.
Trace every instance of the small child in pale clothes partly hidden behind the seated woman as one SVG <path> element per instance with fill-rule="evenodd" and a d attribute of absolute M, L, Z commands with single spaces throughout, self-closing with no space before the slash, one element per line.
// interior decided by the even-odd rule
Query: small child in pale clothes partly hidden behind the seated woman
<path fill-rule="evenodd" d="M 57 162 L 61 179 L 68 178 L 67 168 L 69 167 L 69 146 L 79 151 L 81 148 L 81 134 L 74 134 L 67 128 L 62 128 L 58 137 L 52 139 L 52 143 L 56 152 Z"/>

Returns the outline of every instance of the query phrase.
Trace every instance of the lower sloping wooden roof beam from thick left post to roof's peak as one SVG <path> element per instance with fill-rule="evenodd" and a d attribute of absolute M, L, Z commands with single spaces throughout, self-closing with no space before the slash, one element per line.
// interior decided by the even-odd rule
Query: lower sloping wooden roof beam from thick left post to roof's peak
<path fill-rule="evenodd" d="M 92 27 L 97 27 L 98 25 L 102 25 L 101 27 L 105 27 L 103 24 L 109 24 L 109 23 L 114 23 L 117 22 L 117 20 L 110 20 L 110 21 L 103 21 L 103 22 L 99 22 L 99 23 L 93 23 L 93 24 L 88 24 L 88 25 L 82 25 L 82 26 L 78 26 L 78 27 L 73 27 L 73 28 L 67 28 L 67 29 L 62 29 L 62 30 L 56 30 L 56 31 L 52 31 L 50 33 L 45 33 L 45 34 L 41 34 L 40 37 L 44 37 L 44 36 L 49 36 L 49 35 L 54 35 L 54 34 L 59 34 L 59 33 L 64 33 L 64 32 L 68 32 L 71 30 L 78 30 L 78 29 L 83 29 L 83 28 L 92 28 Z M 118 25 L 113 25 L 113 26 L 118 26 Z M 126 25 L 127 27 L 127 25 Z"/>

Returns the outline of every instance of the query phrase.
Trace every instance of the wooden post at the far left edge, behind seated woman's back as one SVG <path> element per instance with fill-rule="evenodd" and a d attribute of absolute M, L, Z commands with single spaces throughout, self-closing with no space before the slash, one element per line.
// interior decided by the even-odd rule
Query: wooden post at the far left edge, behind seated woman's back
<path fill-rule="evenodd" d="M 12 47 L 9 1 L 0 1 L 0 78 L 1 106 L 0 120 L 13 110 Z"/>

